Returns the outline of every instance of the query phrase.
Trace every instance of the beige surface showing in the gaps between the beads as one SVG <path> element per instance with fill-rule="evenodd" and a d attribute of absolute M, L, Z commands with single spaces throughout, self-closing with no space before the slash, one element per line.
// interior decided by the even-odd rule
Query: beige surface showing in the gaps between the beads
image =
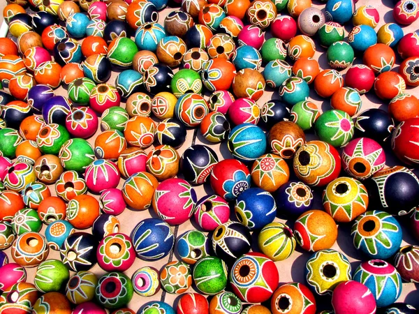
<path fill-rule="evenodd" d="M 381 25 L 388 23 L 388 22 L 394 22 L 393 18 L 392 18 L 392 7 L 394 6 L 392 0 L 384 0 L 384 1 L 373 1 L 373 0 L 360 0 L 358 1 L 358 3 L 356 3 L 356 8 L 358 8 L 359 6 L 362 5 L 372 5 L 375 8 L 378 9 L 379 13 L 380 13 L 380 22 L 378 23 L 378 26 L 376 27 L 376 31 L 378 31 L 379 27 L 381 27 Z M 1 11 L 3 10 L 3 7 L 6 5 L 6 1 L 5 0 L 1 0 L 0 1 L 0 8 Z M 320 1 L 316 1 L 314 0 L 314 6 L 321 8 L 324 12 L 324 8 L 325 8 L 325 4 L 321 3 Z M 163 24 L 164 18 L 166 17 L 166 15 L 171 11 L 171 10 L 175 10 L 175 8 L 166 8 L 165 10 L 162 10 L 160 12 L 160 17 L 159 17 L 159 22 L 161 24 Z M 286 14 L 286 12 L 284 12 L 284 14 Z M 3 17 L 0 17 L 1 20 L 3 20 Z M 348 31 L 351 31 L 351 27 L 352 24 L 351 22 L 348 23 L 348 25 L 346 26 L 346 36 L 348 34 Z M 411 24 L 408 27 L 403 27 L 403 31 L 404 33 L 409 33 L 412 31 L 416 31 L 419 28 L 419 20 L 416 21 L 415 23 Z M 267 38 L 270 38 L 270 34 L 267 33 Z M 320 66 L 322 69 L 325 68 L 329 68 L 328 63 L 327 63 L 327 59 L 325 56 L 325 49 L 323 47 L 320 47 L 320 45 L 318 44 L 318 41 L 316 41 L 316 55 L 315 58 L 318 59 Z M 397 55 L 397 66 L 395 66 L 395 68 L 393 68 L 393 70 L 397 71 L 398 70 L 398 65 L 401 62 L 401 59 L 399 59 L 398 55 Z M 362 63 L 362 57 L 357 57 L 354 61 L 354 63 Z M 291 63 L 293 64 L 293 63 Z M 342 71 L 342 73 L 345 73 L 346 71 Z M 110 84 L 114 84 L 115 82 L 115 78 L 117 76 L 117 73 L 112 73 L 112 77 L 110 78 L 110 80 L 108 81 L 108 83 Z M 413 94 L 415 96 L 419 96 L 419 87 L 417 88 L 411 88 L 408 87 L 406 89 L 406 92 L 409 94 Z M 62 87 L 60 87 L 59 89 L 57 89 L 56 94 L 61 94 L 64 96 L 67 96 L 66 93 L 66 89 L 63 89 Z M 262 98 L 260 98 L 260 100 L 258 100 L 258 105 L 263 105 L 263 103 L 265 103 L 267 100 L 270 99 L 275 99 L 275 98 L 279 98 L 278 96 L 278 91 L 275 90 L 273 91 L 271 90 L 267 90 L 265 91 L 265 94 L 263 95 Z M 314 89 L 311 89 L 310 91 L 310 100 L 314 101 L 314 103 L 316 103 L 318 105 L 319 108 L 321 108 L 322 111 L 324 110 L 330 110 L 330 100 L 329 99 L 324 99 L 324 98 L 320 98 L 319 96 L 317 96 L 316 92 L 314 91 Z M 125 104 L 122 103 L 122 107 L 124 107 Z M 372 108 L 372 107 L 379 107 L 381 109 L 387 110 L 388 107 L 388 103 L 383 103 L 382 100 L 380 100 L 379 98 L 377 98 L 374 94 L 374 91 L 370 91 L 368 94 L 363 95 L 362 96 L 362 111 L 368 109 L 368 108 Z M 182 156 L 184 150 L 191 146 L 191 144 L 193 144 L 194 142 L 196 144 L 198 143 L 202 143 L 202 144 L 206 144 L 209 145 L 210 147 L 212 147 L 212 149 L 214 149 L 217 153 L 217 155 L 219 156 L 219 160 L 222 160 L 223 158 L 231 158 L 231 155 L 226 147 L 226 143 L 223 144 L 212 144 L 210 142 L 207 142 L 205 139 L 203 139 L 203 137 L 200 135 L 200 131 L 198 130 L 195 135 L 194 135 L 194 131 L 196 132 L 197 130 L 188 130 L 188 135 L 186 137 L 186 142 L 182 145 L 182 147 L 180 147 L 178 149 L 179 155 Z M 91 137 L 89 139 L 89 142 L 93 145 L 94 144 L 94 139 L 96 138 L 96 136 L 101 133 L 101 130 L 98 130 L 98 132 L 96 133 L 96 135 L 94 135 L 94 137 Z M 314 133 L 309 133 L 308 134 L 308 140 L 311 140 L 312 138 L 315 138 Z M 147 149 L 146 151 L 150 151 L 152 149 L 152 147 L 150 147 L 149 149 Z M 399 163 L 397 160 L 395 160 L 394 156 L 392 156 L 392 153 L 387 151 L 386 152 L 386 156 L 388 159 L 388 165 L 395 165 L 397 163 Z M 179 176 L 182 176 L 181 174 L 179 174 Z M 121 179 L 120 183 L 119 183 L 119 188 L 122 187 L 123 184 L 123 179 Z M 50 190 L 52 191 L 53 194 L 54 193 L 54 186 L 51 185 L 50 186 Z M 209 184 L 204 185 L 204 186 L 198 186 L 195 188 L 196 193 L 198 195 L 198 199 L 200 197 L 203 197 L 204 195 L 208 194 L 208 193 L 212 193 L 212 188 L 210 187 Z M 320 195 L 321 191 L 316 191 L 316 203 L 314 205 L 314 208 L 317 209 L 322 209 L 321 207 L 321 202 L 319 202 L 318 200 L 318 196 Z M 97 195 L 96 195 L 97 196 Z M 373 209 L 373 208 L 369 208 L 369 209 Z M 144 218 L 149 218 L 150 216 L 155 216 L 154 212 L 151 211 L 133 211 L 131 209 L 126 209 L 124 211 L 123 214 L 121 214 L 120 216 L 118 216 L 120 222 L 121 222 L 121 230 L 120 232 L 123 232 L 124 234 L 131 234 L 131 230 L 133 230 L 133 227 L 135 227 L 135 225 L 140 222 L 140 220 L 144 219 Z M 232 213 L 231 216 L 233 219 L 235 219 L 234 213 Z M 289 226 L 293 227 L 293 221 L 285 221 L 279 218 L 276 218 L 276 220 L 278 221 L 282 221 L 287 223 Z M 403 223 L 401 221 L 401 223 Z M 45 231 L 46 226 L 43 226 L 43 230 L 42 232 Z M 191 224 L 190 221 L 180 225 L 179 227 L 173 227 L 172 228 L 175 232 L 175 235 L 177 237 L 179 237 L 179 235 L 182 235 L 184 232 L 186 232 L 186 230 L 191 230 L 193 229 L 193 225 Z M 358 253 L 357 251 L 355 251 L 355 248 L 353 247 L 352 244 L 352 239 L 350 237 L 350 229 L 351 229 L 351 224 L 348 225 L 344 225 L 341 224 L 339 225 L 339 237 L 337 239 L 337 242 L 335 243 L 334 246 L 332 246 L 332 248 L 341 251 L 342 253 L 344 253 L 344 255 L 346 255 L 348 257 L 348 259 L 351 261 L 351 265 L 352 265 L 352 269 L 353 271 L 355 271 L 356 267 L 358 267 L 358 265 L 360 264 L 360 262 L 362 260 L 367 260 L 365 258 L 365 256 L 362 256 L 360 253 Z M 85 230 L 87 232 L 90 232 L 89 230 Z M 406 230 L 406 228 L 403 229 L 403 239 L 404 239 L 404 244 L 408 243 L 408 244 L 418 244 L 418 241 L 414 240 L 410 235 L 409 235 L 409 230 Z M 256 232 L 253 233 L 253 239 L 255 241 L 253 241 L 255 245 L 253 245 L 253 247 L 257 247 L 257 234 Z M 8 253 L 9 257 L 10 257 L 10 249 L 8 249 L 6 251 L 6 253 Z M 297 248 L 297 250 L 295 251 L 295 253 L 293 253 L 293 255 L 291 255 L 291 257 L 288 258 L 288 260 L 282 261 L 282 262 L 276 262 L 277 264 L 277 268 L 279 270 L 279 278 L 280 278 L 280 283 L 287 283 L 287 282 L 291 282 L 291 281 L 298 281 L 300 283 L 305 283 L 304 280 L 304 265 L 307 261 L 307 259 L 309 258 L 309 256 L 311 255 L 311 253 L 307 253 L 302 251 L 302 249 Z M 48 258 L 56 258 L 59 259 L 59 253 L 57 251 L 50 251 L 50 255 Z M 164 264 L 166 264 L 166 262 L 168 262 L 168 260 L 170 259 L 176 259 L 176 256 L 168 256 L 166 258 L 164 258 L 163 260 L 159 260 L 158 262 L 153 262 L 152 265 L 158 269 L 160 269 L 161 267 L 163 267 Z M 10 258 L 11 260 L 11 258 Z M 128 269 L 128 271 L 125 272 L 126 275 L 131 276 L 138 268 L 140 267 L 144 267 L 146 265 L 149 265 L 150 262 L 146 262 L 140 259 L 136 259 L 135 263 L 133 264 L 133 266 Z M 28 281 L 32 281 L 32 278 L 35 274 L 36 269 L 27 269 L 28 272 Z M 103 271 L 100 267 L 98 267 L 98 265 L 96 264 L 95 267 L 93 267 L 91 269 L 91 271 L 94 271 L 95 274 L 97 274 L 98 276 L 101 276 L 103 274 L 105 274 L 105 271 Z M 403 284 L 403 292 L 402 292 L 402 296 L 399 297 L 398 301 L 406 301 L 406 303 L 412 304 L 414 306 L 416 306 L 417 308 L 419 308 L 419 292 L 417 290 L 418 285 L 414 285 L 413 283 L 404 283 Z M 191 288 L 189 290 L 189 292 L 193 292 L 193 289 Z M 145 297 L 139 297 L 137 294 L 134 294 L 134 297 L 131 301 L 131 303 L 128 305 L 131 309 L 133 309 L 133 311 L 138 311 L 138 308 L 140 308 L 140 306 L 142 306 L 142 304 L 144 304 L 147 301 L 152 301 L 152 300 L 161 300 L 164 299 L 166 302 L 168 302 L 168 304 L 177 304 L 177 296 L 173 295 L 173 294 L 166 294 L 166 295 L 162 295 L 162 292 L 159 292 L 158 294 L 154 295 L 153 297 L 149 297 L 149 298 L 145 298 Z M 210 299 L 210 298 L 209 298 Z M 318 309 L 325 309 L 325 308 L 330 308 L 330 298 L 328 297 L 321 297 L 321 298 L 317 298 L 318 301 Z M 175 303 L 174 303 L 175 302 Z"/>

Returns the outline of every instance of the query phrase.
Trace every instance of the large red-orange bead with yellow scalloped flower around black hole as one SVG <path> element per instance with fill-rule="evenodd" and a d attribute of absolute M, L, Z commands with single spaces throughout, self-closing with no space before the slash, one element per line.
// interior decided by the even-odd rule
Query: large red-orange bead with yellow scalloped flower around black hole
<path fill-rule="evenodd" d="M 310 141 L 295 153 L 293 168 L 297 177 L 310 186 L 325 186 L 339 176 L 341 158 L 332 145 Z"/>

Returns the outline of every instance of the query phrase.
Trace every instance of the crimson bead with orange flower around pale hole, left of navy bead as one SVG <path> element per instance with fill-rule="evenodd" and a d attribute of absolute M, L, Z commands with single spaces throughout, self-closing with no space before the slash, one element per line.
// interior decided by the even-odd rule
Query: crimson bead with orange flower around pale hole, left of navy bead
<path fill-rule="evenodd" d="M 128 236 L 113 233 L 99 242 L 96 257 L 105 271 L 126 271 L 135 261 L 135 250 Z"/>

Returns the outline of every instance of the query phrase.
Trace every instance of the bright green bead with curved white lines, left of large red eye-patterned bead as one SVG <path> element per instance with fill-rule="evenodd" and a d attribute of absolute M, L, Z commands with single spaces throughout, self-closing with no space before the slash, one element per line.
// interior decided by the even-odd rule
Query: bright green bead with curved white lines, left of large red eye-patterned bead
<path fill-rule="evenodd" d="M 193 268 L 193 281 L 200 292 L 217 294 L 227 285 L 227 266 L 219 257 L 201 258 Z"/>

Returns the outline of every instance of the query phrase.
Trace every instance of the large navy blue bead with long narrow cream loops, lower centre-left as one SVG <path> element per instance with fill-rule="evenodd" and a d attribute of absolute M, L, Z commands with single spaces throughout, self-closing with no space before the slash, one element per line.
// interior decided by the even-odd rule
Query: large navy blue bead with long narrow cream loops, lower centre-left
<path fill-rule="evenodd" d="M 172 251 L 175 244 L 170 225 L 156 218 L 146 218 L 138 223 L 131 239 L 137 256 L 142 260 L 160 260 Z"/>

